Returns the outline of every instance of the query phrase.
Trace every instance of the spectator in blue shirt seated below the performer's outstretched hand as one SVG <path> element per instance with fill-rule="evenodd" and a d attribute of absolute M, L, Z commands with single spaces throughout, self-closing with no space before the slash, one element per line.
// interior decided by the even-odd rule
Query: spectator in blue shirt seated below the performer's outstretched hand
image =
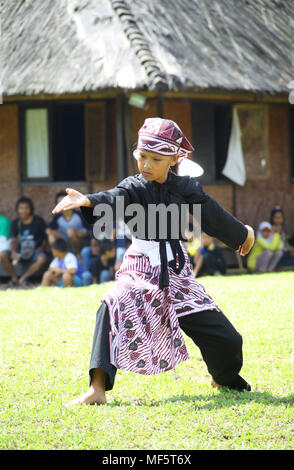
<path fill-rule="evenodd" d="M 65 196 L 67 196 L 65 191 L 57 193 L 55 198 L 56 204 Z M 63 238 L 68 243 L 68 249 L 71 249 L 77 255 L 80 254 L 82 241 L 89 241 L 89 226 L 80 213 L 74 210 L 54 215 L 46 233 L 50 245 L 57 238 Z"/>

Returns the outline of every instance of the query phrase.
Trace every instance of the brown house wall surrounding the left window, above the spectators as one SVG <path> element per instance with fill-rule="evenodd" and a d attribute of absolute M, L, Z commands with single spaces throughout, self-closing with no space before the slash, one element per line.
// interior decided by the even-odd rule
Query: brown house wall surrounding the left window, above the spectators
<path fill-rule="evenodd" d="M 46 221 L 51 219 L 55 195 L 66 187 L 82 193 L 98 192 L 117 184 L 116 114 L 115 101 L 107 103 L 107 177 L 89 184 L 77 183 L 25 183 L 21 184 L 19 166 L 18 105 L 0 106 L 0 213 L 11 220 L 16 217 L 15 204 L 20 196 L 33 200 L 35 213 Z"/>

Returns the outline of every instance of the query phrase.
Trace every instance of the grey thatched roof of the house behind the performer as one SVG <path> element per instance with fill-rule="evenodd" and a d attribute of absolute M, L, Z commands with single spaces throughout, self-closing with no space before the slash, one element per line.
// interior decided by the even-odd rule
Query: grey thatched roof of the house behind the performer
<path fill-rule="evenodd" d="M 294 79 L 294 0 L 9 0 L 1 20 L 4 96 Z"/>

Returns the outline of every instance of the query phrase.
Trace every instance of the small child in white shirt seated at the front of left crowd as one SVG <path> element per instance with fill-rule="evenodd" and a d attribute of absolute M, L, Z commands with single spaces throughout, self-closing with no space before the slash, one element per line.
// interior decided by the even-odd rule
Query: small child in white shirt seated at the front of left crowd
<path fill-rule="evenodd" d="M 51 249 L 54 259 L 43 274 L 42 286 L 81 287 L 82 267 L 77 257 L 67 250 L 66 241 L 58 238 Z"/>

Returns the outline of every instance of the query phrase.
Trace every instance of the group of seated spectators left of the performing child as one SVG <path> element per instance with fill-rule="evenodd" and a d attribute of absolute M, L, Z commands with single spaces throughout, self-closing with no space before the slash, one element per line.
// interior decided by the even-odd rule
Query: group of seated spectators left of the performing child
<path fill-rule="evenodd" d="M 66 195 L 59 192 L 55 203 Z M 130 244 L 123 222 L 113 224 L 111 239 L 102 235 L 97 240 L 79 211 L 54 215 L 46 224 L 27 197 L 20 198 L 15 209 L 12 222 L 0 215 L 0 263 L 10 287 L 26 286 L 34 279 L 41 279 L 43 286 L 60 287 L 114 280 Z"/>

